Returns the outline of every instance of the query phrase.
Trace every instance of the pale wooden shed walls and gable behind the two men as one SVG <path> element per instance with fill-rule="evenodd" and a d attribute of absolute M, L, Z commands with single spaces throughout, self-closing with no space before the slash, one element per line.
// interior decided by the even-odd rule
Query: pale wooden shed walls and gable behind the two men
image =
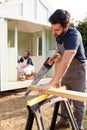
<path fill-rule="evenodd" d="M 49 40 L 50 33 L 46 31 L 46 28 L 49 27 L 49 16 L 50 10 L 41 0 L 11 0 L 0 4 L 1 90 L 7 90 L 3 88 L 3 85 L 6 86 L 8 81 L 17 80 L 17 56 L 22 55 L 25 50 L 30 50 L 36 71 L 39 71 L 44 60 L 51 54 L 49 45 L 52 39 Z M 8 22 L 7 19 L 11 22 Z M 22 21 L 21 27 L 27 28 L 32 25 L 31 30 L 29 30 L 30 28 L 27 30 L 29 33 L 26 33 L 24 28 L 19 29 L 20 21 Z M 24 21 L 25 26 L 23 26 Z M 39 48 L 39 43 L 42 43 L 40 46 L 42 48 Z M 39 56 L 39 54 L 41 55 Z"/>

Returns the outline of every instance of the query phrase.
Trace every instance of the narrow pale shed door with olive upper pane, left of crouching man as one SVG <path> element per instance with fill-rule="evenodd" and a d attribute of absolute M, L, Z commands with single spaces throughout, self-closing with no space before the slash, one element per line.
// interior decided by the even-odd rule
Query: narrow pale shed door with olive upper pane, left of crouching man
<path fill-rule="evenodd" d="M 8 31 L 8 81 L 17 80 L 17 30 Z"/>

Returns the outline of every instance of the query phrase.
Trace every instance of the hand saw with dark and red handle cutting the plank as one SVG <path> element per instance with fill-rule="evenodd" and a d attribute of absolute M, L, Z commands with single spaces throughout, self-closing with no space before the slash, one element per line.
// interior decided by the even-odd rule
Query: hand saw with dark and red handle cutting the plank
<path fill-rule="evenodd" d="M 39 70 L 38 74 L 36 75 L 36 77 L 31 82 L 30 86 L 31 85 L 36 85 L 43 78 L 43 76 L 51 69 L 51 67 L 53 66 L 54 63 L 53 64 L 49 64 L 48 63 L 49 58 L 50 57 L 48 57 L 46 59 L 46 61 L 44 62 L 43 66 Z M 26 98 L 30 92 L 31 92 L 31 90 L 29 90 L 29 88 L 28 88 L 27 91 L 24 94 L 24 97 Z"/>

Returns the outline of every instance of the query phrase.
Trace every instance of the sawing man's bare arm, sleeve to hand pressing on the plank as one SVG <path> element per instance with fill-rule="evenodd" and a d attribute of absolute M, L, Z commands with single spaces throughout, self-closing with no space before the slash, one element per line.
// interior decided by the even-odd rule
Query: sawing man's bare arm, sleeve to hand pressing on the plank
<path fill-rule="evenodd" d="M 57 66 L 56 73 L 53 79 L 48 84 L 40 86 L 39 87 L 40 92 L 43 92 L 44 90 L 49 89 L 51 87 L 56 87 L 56 85 L 59 83 L 59 81 L 67 72 L 75 54 L 76 50 L 65 50 L 61 62 Z"/>

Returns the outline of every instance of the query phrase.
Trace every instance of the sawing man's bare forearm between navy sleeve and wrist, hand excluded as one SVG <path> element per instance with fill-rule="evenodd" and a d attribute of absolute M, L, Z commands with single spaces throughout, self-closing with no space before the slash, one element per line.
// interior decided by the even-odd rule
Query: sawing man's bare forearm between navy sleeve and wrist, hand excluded
<path fill-rule="evenodd" d="M 50 82 L 52 85 L 56 85 L 65 75 L 75 54 L 76 54 L 75 50 L 66 50 L 64 52 L 61 62 L 58 64 L 56 68 L 55 76 Z"/>

